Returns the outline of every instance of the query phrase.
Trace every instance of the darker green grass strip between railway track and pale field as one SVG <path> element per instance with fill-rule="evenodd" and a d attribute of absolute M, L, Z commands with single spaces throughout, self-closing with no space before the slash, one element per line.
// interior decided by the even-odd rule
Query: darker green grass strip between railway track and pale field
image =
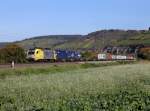
<path fill-rule="evenodd" d="M 126 62 L 93 62 L 93 63 L 82 63 L 82 64 L 64 64 L 64 65 L 50 65 L 46 67 L 30 67 L 30 68 L 16 68 L 14 70 L 0 70 L 0 79 L 6 78 L 9 75 L 38 75 L 38 74 L 57 74 L 63 72 L 70 72 L 79 69 L 88 69 L 88 68 L 97 68 L 97 67 L 106 67 L 106 66 L 115 66 L 123 64 L 134 64 L 134 61 Z M 33 64 L 34 66 L 34 64 Z"/>

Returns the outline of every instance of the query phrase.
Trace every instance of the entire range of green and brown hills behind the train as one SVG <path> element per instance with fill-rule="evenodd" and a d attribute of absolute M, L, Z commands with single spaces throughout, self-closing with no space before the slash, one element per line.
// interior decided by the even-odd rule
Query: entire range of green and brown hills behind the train
<path fill-rule="evenodd" d="M 107 45 L 150 45 L 150 31 L 101 30 L 87 35 L 48 35 L 15 42 L 25 49 L 33 47 L 53 49 L 91 49 Z M 4 44 L 0 44 L 4 46 Z"/>

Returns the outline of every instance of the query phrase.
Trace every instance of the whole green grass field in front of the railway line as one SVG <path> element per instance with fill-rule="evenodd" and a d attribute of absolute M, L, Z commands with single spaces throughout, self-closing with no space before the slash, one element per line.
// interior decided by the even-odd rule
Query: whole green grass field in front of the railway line
<path fill-rule="evenodd" d="M 149 111 L 150 64 L 105 66 L 0 70 L 0 110 Z"/>

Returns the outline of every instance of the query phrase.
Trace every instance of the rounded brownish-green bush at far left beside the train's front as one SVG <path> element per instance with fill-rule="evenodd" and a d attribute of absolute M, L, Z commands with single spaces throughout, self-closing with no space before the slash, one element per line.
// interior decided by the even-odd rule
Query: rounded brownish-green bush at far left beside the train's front
<path fill-rule="evenodd" d="M 23 63 L 26 61 L 26 55 L 23 48 L 18 45 L 7 45 L 5 48 L 0 49 L 0 63 Z"/>

